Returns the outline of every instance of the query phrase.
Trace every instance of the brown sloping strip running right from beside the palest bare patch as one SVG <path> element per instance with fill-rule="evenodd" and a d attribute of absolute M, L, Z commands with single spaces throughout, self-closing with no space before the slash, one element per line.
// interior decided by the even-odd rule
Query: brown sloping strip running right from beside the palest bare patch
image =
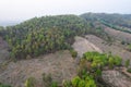
<path fill-rule="evenodd" d="M 98 47 L 100 50 L 103 50 L 103 52 L 106 52 L 106 53 L 111 52 L 115 55 L 120 55 L 123 59 L 123 61 L 126 61 L 127 59 L 131 59 L 130 58 L 131 52 L 124 50 L 121 47 L 118 47 L 116 45 L 109 45 L 105 40 L 103 40 L 94 35 L 87 35 L 86 38 L 88 41 L 91 41 L 96 47 Z"/>

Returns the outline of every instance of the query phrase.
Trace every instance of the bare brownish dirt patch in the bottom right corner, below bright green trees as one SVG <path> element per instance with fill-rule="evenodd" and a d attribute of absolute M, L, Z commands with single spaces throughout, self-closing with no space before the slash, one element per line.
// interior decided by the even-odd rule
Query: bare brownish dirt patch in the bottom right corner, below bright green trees
<path fill-rule="evenodd" d="M 131 80 L 118 71 L 103 71 L 102 77 L 111 87 L 131 87 Z"/>

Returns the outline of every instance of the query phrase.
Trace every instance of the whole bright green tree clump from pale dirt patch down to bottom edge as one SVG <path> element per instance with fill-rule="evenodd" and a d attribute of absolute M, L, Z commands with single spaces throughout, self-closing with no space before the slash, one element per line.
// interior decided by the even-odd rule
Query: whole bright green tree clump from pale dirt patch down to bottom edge
<path fill-rule="evenodd" d="M 121 58 L 106 53 L 86 52 L 81 59 L 78 76 L 71 82 L 64 82 L 63 87 L 104 87 L 100 83 L 105 66 L 121 65 Z"/>

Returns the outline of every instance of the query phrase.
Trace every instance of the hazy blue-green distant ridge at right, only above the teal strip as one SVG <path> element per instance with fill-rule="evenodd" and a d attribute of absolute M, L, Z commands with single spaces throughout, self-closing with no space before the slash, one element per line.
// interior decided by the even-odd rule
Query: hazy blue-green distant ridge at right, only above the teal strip
<path fill-rule="evenodd" d="M 131 28 L 131 14 L 84 13 L 86 20 L 103 20 L 107 23 Z"/>

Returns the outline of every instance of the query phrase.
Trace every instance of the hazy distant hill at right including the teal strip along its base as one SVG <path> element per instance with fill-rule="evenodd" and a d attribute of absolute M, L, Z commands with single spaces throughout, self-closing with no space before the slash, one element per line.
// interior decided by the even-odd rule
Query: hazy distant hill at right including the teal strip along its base
<path fill-rule="evenodd" d="M 84 13 L 81 17 L 131 34 L 131 14 Z"/>

